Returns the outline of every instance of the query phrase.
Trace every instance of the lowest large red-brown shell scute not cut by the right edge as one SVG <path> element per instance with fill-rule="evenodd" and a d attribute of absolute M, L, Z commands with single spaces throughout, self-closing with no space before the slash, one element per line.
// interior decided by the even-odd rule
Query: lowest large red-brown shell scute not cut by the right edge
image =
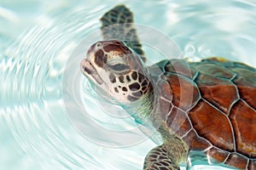
<path fill-rule="evenodd" d="M 234 151 L 234 137 L 230 121 L 205 100 L 201 99 L 189 111 L 190 121 L 196 132 L 220 149 Z"/>

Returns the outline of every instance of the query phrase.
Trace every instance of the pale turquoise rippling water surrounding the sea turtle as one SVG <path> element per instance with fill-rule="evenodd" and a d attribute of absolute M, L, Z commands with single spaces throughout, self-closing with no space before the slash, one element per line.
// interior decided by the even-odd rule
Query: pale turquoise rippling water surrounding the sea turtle
<path fill-rule="evenodd" d="M 224 56 L 256 65 L 253 1 L 119 3 L 134 11 L 137 24 L 153 26 L 171 37 L 191 60 Z M 0 169 L 142 169 L 144 156 L 155 146 L 143 133 L 135 134 L 143 137 L 137 144 L 113 148 L 114 140 L 96 128 L 90 129 L 93 139 L 80 131 L 91 121 L 125 133 L 136 124 L 125 115 L 125 121 L 109 115 L 113 110 L 106 108 L 119 108 L 98 105 L 93 93 L 85 93 L 91 88 L 78 73 L 79 65 L 68 67 L 83 58 L 87 48 L 78 47 L 99 31 L 102 14 L 119 3 L 0 1 Z M 150 59 L 157 58 L 157 53 L 145 50 Z M 63 81 L 65 75 L 74 78 L 69 81 L 71 88 Z M 67 110 L 73 105 L 65 100 L 71 99 L 67 92 L 80 94 L 77 99 L 90 119 L 78 115 L 81 124 L 72 121 L 76 110 Z M 104 144 L 96 143 L 96 138 Z"/>

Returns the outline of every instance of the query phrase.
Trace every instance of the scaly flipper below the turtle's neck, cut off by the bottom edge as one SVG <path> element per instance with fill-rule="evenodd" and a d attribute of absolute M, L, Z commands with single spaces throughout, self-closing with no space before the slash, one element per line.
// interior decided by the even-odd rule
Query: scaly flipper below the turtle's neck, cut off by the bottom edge
<path fill-rule="evenodd" d="M 171 156 L 168 156 L 165 145 L 155 147 L 148 152 L 145 158 L 143 170 L 177 170 L 180 169 L 173 161 Z"/>

